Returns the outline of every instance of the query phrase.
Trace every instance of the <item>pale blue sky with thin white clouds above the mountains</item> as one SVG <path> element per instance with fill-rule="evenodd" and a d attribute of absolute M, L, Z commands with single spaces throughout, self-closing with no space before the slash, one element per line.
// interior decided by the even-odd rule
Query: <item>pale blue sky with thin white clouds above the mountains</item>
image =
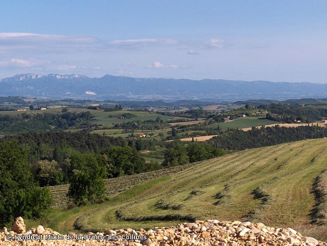
<path fill-rule="evenodd" d="M 0 78 L 327 83 L 326 64 L 326 0 L 0 0 Z"/>

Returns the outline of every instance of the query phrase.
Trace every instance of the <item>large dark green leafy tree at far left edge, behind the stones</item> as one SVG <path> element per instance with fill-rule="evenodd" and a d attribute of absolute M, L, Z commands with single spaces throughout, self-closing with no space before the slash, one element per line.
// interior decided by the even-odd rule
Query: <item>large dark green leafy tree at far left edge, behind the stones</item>
<path fill-rule="evenodd" d="M 50 204 L 49 188 L 38 187 L 18 143 L 0 143 L 0 224 L 8 225 L 18 216 L 45 217 Z"/>

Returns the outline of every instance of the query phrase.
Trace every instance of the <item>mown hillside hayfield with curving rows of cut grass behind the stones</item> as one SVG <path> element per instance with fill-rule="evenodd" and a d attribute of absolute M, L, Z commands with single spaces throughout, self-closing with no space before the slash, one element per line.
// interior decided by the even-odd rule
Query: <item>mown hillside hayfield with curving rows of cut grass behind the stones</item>
<path fill-rule="evenodd" d="M 217 218 L 301 228 L 310 221 L 316 203 L 312 185 L 326 169 L 326 158 L 327 138 L 228 154 L 190 165 L 138 195 L 120 193 L 105 204 L 54 211 L 49 225 L 64 233 L 74 230 L 74 223 L 84 231 L 103 231 Z M 253 193 L 258 187 L 266 202 Z M 156 206 L 159 201 L 165 208 Z M 319 230 L 326 235 L 326 227 Z"/>

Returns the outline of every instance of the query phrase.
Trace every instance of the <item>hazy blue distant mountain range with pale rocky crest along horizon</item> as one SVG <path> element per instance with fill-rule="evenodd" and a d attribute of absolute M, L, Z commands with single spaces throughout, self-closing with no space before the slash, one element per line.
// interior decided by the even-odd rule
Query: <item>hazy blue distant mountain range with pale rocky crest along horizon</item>
<path fill-rule="evenodd" d="M 134 101 L 192 99 L 232 102 L 247 99 L 327 98 L 327 84 L 131 78 L 112 75 L 89 78 L 79 74 L 29 73 L 1 79 L 0 96 Z"/>

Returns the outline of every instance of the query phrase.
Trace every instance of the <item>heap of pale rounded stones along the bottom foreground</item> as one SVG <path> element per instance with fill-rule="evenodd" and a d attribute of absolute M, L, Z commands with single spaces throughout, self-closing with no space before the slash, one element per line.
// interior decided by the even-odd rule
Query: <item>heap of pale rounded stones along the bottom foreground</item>
<path fill-rule="evenodd" d="M 292 228 L 267 227 L 262 223 L 226 222 L 218 220 L 197 220 L 195 223 L 183 223 L 173 227 L 158 227 L 154 230 L 120 229 L 107 230 L 103 233 L 61 235 L 50 228 L 39 225 L 36 229 L 26 226 L 22 217 L 18 217 L 11 231 L 4 227 L 0 245 L 10 246 L 327 246 L 311 237 L 303 237 Z"/>

